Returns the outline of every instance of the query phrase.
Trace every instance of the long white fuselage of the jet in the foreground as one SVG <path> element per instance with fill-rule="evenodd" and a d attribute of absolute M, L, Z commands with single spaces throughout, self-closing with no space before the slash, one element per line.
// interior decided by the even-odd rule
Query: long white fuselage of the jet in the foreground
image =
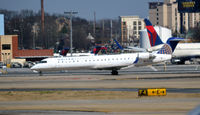
<path fill-rule="evenodd" d="M 152 58 L 153 57 L 153 58 Z M 152 59 L 151 59 L 152 58 Z M 74 69 L 119 70 L 131 65 L 159 63 L 171 59 L 171 55 L 148 53 L 129 53 L 116 55 L 97 55 L 79 57 L 47 58 L 34 65 L 36 71 L 56 71 Z M 140 63 L 139 63 L 140 61 Z"/>

